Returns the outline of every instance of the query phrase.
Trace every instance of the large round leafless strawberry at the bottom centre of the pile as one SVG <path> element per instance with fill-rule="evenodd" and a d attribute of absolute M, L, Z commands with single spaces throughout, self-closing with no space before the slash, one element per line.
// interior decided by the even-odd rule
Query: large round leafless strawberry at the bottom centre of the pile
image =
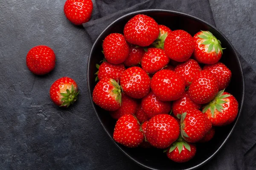
<path fill-rule="evenodd" d="M 152 146 L 166 148 L 178 139 L 180 126 L 169 114 L 158 114 L 148 121 L 145 135 Z"/>

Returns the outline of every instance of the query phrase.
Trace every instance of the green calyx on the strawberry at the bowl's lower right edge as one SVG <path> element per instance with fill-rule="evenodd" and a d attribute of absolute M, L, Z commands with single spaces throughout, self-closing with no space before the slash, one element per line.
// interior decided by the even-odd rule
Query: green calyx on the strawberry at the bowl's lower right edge
<path fill-rule="evenodd" d="M 204 107 L 204 109 L 202 111 L 203 113 L 205 113 L 208 109 L 210 109 L 210 111 L 212 113 L 212 117 L 214 117 L 215 110 L 217 110 L 219 112 L 222 112 L 224 110 L 222 105 L 227 102 L 224 101 L 223 99 L 230 96 L 229 94 L 222 95 L 224 93 L 224 90 L 219 91 L 218 94 L 215 96 L 215 98 Z"/>

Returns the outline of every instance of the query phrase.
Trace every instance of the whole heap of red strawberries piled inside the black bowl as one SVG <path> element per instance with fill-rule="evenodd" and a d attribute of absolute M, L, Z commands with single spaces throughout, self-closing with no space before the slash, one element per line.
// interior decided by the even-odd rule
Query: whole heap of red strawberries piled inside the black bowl
<path fill-rule="evenodd" d="M 221 42 L 209 31 L 192 37 L 143 14 L 123 32 L 103 41 L 93 102 L 117 120 L 116 142 L 165 149 L 169 159 L 189 161 L 195 143 L 211 140 L 214 126 L 228 125 L 238 114 L 235 97 L 224 92 L 231 71 L 218 62 Z"/>

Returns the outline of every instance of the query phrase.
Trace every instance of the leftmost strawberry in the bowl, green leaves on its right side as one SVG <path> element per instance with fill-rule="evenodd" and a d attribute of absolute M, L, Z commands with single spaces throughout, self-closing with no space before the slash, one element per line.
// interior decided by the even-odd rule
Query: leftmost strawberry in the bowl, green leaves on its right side
<path fill-rule="evenodd" d="M 93 102 L 107 111 L 116 111 L 121 106 L 121 89 L 114 79 L 103 78 L 93 89 Z"/>

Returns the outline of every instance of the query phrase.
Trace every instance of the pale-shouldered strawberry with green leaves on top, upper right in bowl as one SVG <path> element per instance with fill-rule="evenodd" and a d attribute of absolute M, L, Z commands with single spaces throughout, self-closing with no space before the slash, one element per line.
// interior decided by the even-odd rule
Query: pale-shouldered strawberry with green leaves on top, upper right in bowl
<path fill-rule="evenodd" d="M 215 64 L 222 56 L 221 42 L 210 31 L 199 31 L 193 37 L 194 57 L 204 64 Z M 218 55 L 217 55 L 218 54 Z"/>

